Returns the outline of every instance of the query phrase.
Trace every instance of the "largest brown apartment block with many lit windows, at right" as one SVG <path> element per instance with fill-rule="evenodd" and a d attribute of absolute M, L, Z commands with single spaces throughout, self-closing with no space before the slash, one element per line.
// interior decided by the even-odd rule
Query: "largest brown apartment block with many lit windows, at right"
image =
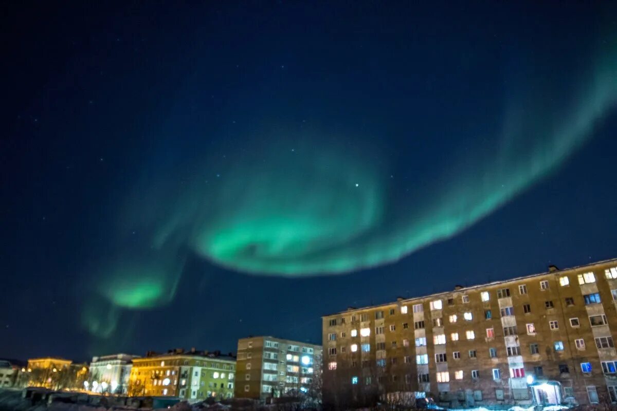
<path fill-rule="evenodd" d="M 326 315 L 324 401 L 615 402 L 616 300 L 613 259 Z"/>

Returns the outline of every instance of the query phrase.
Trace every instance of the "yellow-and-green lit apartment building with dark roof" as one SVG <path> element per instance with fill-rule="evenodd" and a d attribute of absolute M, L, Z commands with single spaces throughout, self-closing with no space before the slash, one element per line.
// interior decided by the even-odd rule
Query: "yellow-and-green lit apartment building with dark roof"
<path fill-rule="evenodd" d="M 134 358 L 128 395 L 170 396 L 189 401 L 231 398 L 236 358 L 219 351 L 174 349 L 166 354 L 148 352 Z"/>

